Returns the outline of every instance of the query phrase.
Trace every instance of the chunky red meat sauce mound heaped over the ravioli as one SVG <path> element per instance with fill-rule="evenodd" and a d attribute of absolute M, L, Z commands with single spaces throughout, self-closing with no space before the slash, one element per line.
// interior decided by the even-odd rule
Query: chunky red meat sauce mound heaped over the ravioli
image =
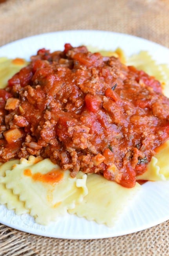
<path fill-rule="evenodd" d="M 0 89 L 0 161 L 50 158 L 133 187 L 169 137 L 160 82 L 85 46 L 41 49 Z"/>

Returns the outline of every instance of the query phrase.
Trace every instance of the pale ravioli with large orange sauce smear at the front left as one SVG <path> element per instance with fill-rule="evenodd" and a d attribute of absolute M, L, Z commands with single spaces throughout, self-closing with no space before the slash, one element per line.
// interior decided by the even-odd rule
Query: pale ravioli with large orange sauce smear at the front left
<path fill-rule="evenodd" d="M 12 171 L 6 171 L 0 182 L 25 202 L 36 223 L 48 224 L 83 200 L 87 194 L 87 175 L 79 172 L 71 178 L 69 171 L 61 171 L 49 159 L 36 160 L 33 156 L 28 161 L 21 159 Z"/>

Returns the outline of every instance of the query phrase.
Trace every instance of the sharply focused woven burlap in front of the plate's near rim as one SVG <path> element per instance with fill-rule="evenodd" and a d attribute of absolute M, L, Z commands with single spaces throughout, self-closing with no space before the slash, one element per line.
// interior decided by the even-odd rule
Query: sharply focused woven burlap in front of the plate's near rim
<path fill-rule="evenodd" d="M 69 240 L 34 236 L 2 226 L 0 255 L 19 256 L 24 253 L 26 256 L 165 256 L 169 255 L 168 230 L 169 221 L 127 236 Z"/>

